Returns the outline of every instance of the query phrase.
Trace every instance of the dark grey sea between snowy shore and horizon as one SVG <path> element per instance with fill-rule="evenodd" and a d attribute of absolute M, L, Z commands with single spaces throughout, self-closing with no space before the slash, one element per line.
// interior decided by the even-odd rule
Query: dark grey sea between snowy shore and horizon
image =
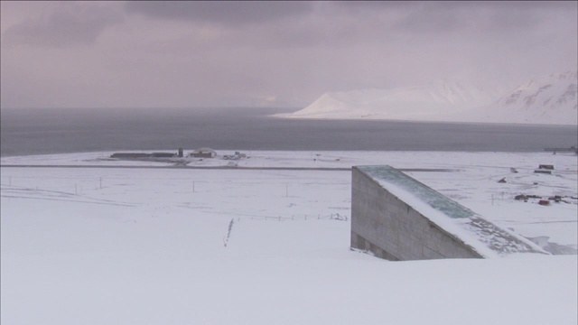
<path fill-rule="evenodd" d="M 542 152 L 578 143 L 578 128 L 550 125 L 288 120 L 296 109 L 7 109 L 1 155 L 122 150 Z"/>

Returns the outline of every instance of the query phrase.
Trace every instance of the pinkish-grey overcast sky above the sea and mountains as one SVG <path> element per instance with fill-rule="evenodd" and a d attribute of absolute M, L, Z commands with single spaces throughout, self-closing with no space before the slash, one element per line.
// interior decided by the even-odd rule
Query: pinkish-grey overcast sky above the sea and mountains
<path fill-rule="evenodd" d="M 0 4 L 2 107 L 304 107 L 578 60 L 575 1 Z"/>

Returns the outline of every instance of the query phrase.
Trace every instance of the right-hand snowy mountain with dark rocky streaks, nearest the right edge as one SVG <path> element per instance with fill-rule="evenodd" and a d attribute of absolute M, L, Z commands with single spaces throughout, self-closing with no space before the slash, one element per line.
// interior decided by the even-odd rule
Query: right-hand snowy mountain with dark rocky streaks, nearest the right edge
<path fill-rule="evenodd" d="M 531 79 L 489 107 L 463 114 L 480 122 L 578 125 L 578 73 Z"/>

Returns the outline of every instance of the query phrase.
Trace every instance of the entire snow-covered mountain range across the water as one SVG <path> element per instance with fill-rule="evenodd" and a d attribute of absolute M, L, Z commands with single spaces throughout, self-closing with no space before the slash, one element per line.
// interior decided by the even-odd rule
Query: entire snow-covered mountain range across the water
<path fill-rule="evenodd" d="M 456 80 L 331 92 L 302 110 L 279 116 L 578 125 L 577 79 L 576 71 L 552 74 L 502 97 Z"/>

